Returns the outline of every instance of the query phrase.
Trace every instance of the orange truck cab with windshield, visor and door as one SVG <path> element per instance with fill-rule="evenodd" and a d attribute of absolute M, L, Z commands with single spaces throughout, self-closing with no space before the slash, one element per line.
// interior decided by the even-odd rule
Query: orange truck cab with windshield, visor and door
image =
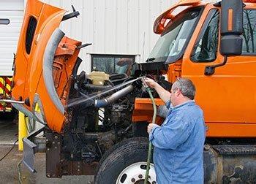
<path fill-rule="evenodd" d="M 250 85 L 256 80 L 255 4 L 244 4 L 241 55 L 230 55 L 224 66 L 208 75 L 207 66 L 225 61 L 220 51 L 221 7 L 219 3 L 197 3 L 169 22 L 165 17 L 172 10 L 159 16 L 154 31 L 161 36 L 149 58 L 169 65 L 168 81 L 187 77 L 195 83 L 195 101 L 204 111 L 208 137 L 255 137 L 256 88 Z M 165 28 L 163 24 L 157 26 L 161 21 Z"/>

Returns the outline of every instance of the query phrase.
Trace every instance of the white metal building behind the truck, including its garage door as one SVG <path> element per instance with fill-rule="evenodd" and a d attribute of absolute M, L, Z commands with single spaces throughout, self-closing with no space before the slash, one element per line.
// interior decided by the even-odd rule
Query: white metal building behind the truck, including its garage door
<path fill-rule="evenodd" d="M 145 61 L 159 35 L 154 34 L 153 24 L 161 12 L 176 0 L 44 0 L 48 4 L 80 12 L 78 18 L 61 23 L 67 37 L 93 45 L 80 51 L 82 68 L 90 72 L 93 60 L 102 58 L 116 64 L 116 59 L 132 58 Z M 10 19 L 10 24 L 0 25 L 0 71 L 10 69 L 15 53 L 20 16 L 26 0 L 1 0 L 0 19 Z M 8 9 L 5 11 L 4 9 Z M 13 18 L 15 17 L 15 18 Z M 10 48 L 10 50 L 8 49 Z M 8 50 L 8 51 L 7 51 Z M 8 61 L 10 63 L 8 63 Z M 8 66 L 4 66 L 7 64 Z M 1 75 L 1 74 L 0 74 Z"/>

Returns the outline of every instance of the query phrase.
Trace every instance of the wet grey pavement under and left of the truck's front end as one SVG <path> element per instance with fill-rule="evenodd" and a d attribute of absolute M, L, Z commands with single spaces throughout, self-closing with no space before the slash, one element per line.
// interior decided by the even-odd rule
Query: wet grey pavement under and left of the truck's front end
<path fill-rule="evenodd" d="M 0 159 L 10 150 L 15 140 L 18 139 L 18 125 L 12 120 L 0 116 Z M 18 145 L 0 161 L 0 183 L 18 183 L 18 163 L 23 153 L 18 151 Z M 33 174 L 21 164 L 21 176 L 23 183 L 93 183 L 94 176 L 65 176 L 61 179 L 45 176 L 45 153 L 37 153 L 35 156 L 35 168 Z"/>

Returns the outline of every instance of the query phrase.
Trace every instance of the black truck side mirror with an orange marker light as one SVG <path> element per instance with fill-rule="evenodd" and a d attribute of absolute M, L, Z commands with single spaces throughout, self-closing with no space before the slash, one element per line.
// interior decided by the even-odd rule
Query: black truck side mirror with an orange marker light
<path fill-rule="evenodd" d="M 222 55 L 241 55 L 243 39 L 242 0 L 222 0 L 220 53 Z"/>

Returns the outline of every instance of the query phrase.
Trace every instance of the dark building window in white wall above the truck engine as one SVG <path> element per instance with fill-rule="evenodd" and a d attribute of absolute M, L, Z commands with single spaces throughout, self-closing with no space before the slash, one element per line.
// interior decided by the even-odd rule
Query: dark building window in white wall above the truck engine
<path fill-rule="evenodd" d="M 91 55 L 91 71 L 129 75 L 133 62 L 135 55 Z"/>

